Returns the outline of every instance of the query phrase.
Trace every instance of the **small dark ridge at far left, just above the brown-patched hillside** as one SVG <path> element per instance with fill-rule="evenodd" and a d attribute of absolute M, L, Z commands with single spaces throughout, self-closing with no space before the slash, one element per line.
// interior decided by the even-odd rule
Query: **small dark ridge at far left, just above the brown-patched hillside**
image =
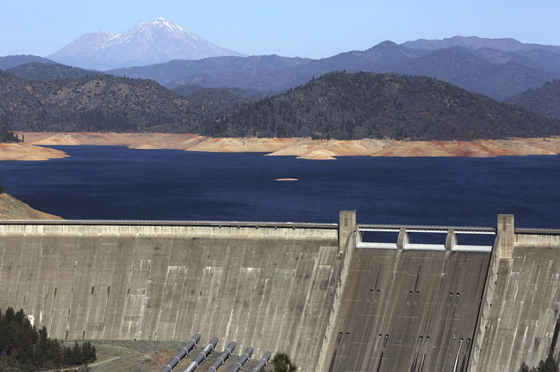
<path fill-rule="evenodd" d="M 32 62 L 20 64 L 6 70 L 11 75 L 31 80 L 52 80 L 59 78 L 80 78 L 82 76 L 104 75 L 99 71 L 80 69 L 79 67 L 66 66 L 57 63 Z"/>

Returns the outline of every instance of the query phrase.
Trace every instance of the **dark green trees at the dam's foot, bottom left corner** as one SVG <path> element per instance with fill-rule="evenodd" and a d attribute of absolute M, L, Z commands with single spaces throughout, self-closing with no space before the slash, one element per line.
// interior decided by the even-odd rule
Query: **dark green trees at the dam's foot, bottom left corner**
<path fill-rule="evenodd" d="M 0 312 L 0 370 L 36 371 L 94 362 L 95 347 L 89 342 L 73 348 L 48 338 L 45 327 L 38 331 L 23 310 Z"/>

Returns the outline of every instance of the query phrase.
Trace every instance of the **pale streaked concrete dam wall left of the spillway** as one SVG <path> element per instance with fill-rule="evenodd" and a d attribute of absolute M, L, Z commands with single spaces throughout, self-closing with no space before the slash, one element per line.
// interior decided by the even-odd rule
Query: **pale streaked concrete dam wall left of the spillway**
<path fill-rule="evenodd" d="M 341 264 L 336 224 L 0 224 L 0 308 L 59 339 L 201 331 L 313 371 Z"/>

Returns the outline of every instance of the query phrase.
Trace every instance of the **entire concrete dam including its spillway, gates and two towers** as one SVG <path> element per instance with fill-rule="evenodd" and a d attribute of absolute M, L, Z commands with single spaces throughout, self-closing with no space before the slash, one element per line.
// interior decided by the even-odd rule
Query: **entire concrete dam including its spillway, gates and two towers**
<path fill-rule="evenodd" d="M 490 243 L 461 244 L 472 235 Z M 495 228 L 352 211 L 338 224 L 3 221 L 0 280 L 0 308 L 59 339 L 201 331 L 300 371 L 517 371 L 559 356 L 560 230 L 513 215 Z"/>

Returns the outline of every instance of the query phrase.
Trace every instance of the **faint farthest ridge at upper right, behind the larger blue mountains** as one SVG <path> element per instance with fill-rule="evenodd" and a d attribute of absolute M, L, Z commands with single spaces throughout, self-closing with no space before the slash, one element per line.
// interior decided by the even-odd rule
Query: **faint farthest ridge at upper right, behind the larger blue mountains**
<path fill-rule="evenodd" d="M 421 50 L 439 50 L 461 47 L 470 50 L 494 49 L 500 50 L 502 52 L 528 52 L 530 50 L 541 49 L 560 54 L 560 46 L 526 44 L 521 43 L 514 38 L 479 38 L 477 36 L 453 36 L 452 38 L 444 38 L 442 40 L 427 40 L 425 38 L 421 38 L 416 41 L 407 41 L 400 45 L 407 48 Z"/>

